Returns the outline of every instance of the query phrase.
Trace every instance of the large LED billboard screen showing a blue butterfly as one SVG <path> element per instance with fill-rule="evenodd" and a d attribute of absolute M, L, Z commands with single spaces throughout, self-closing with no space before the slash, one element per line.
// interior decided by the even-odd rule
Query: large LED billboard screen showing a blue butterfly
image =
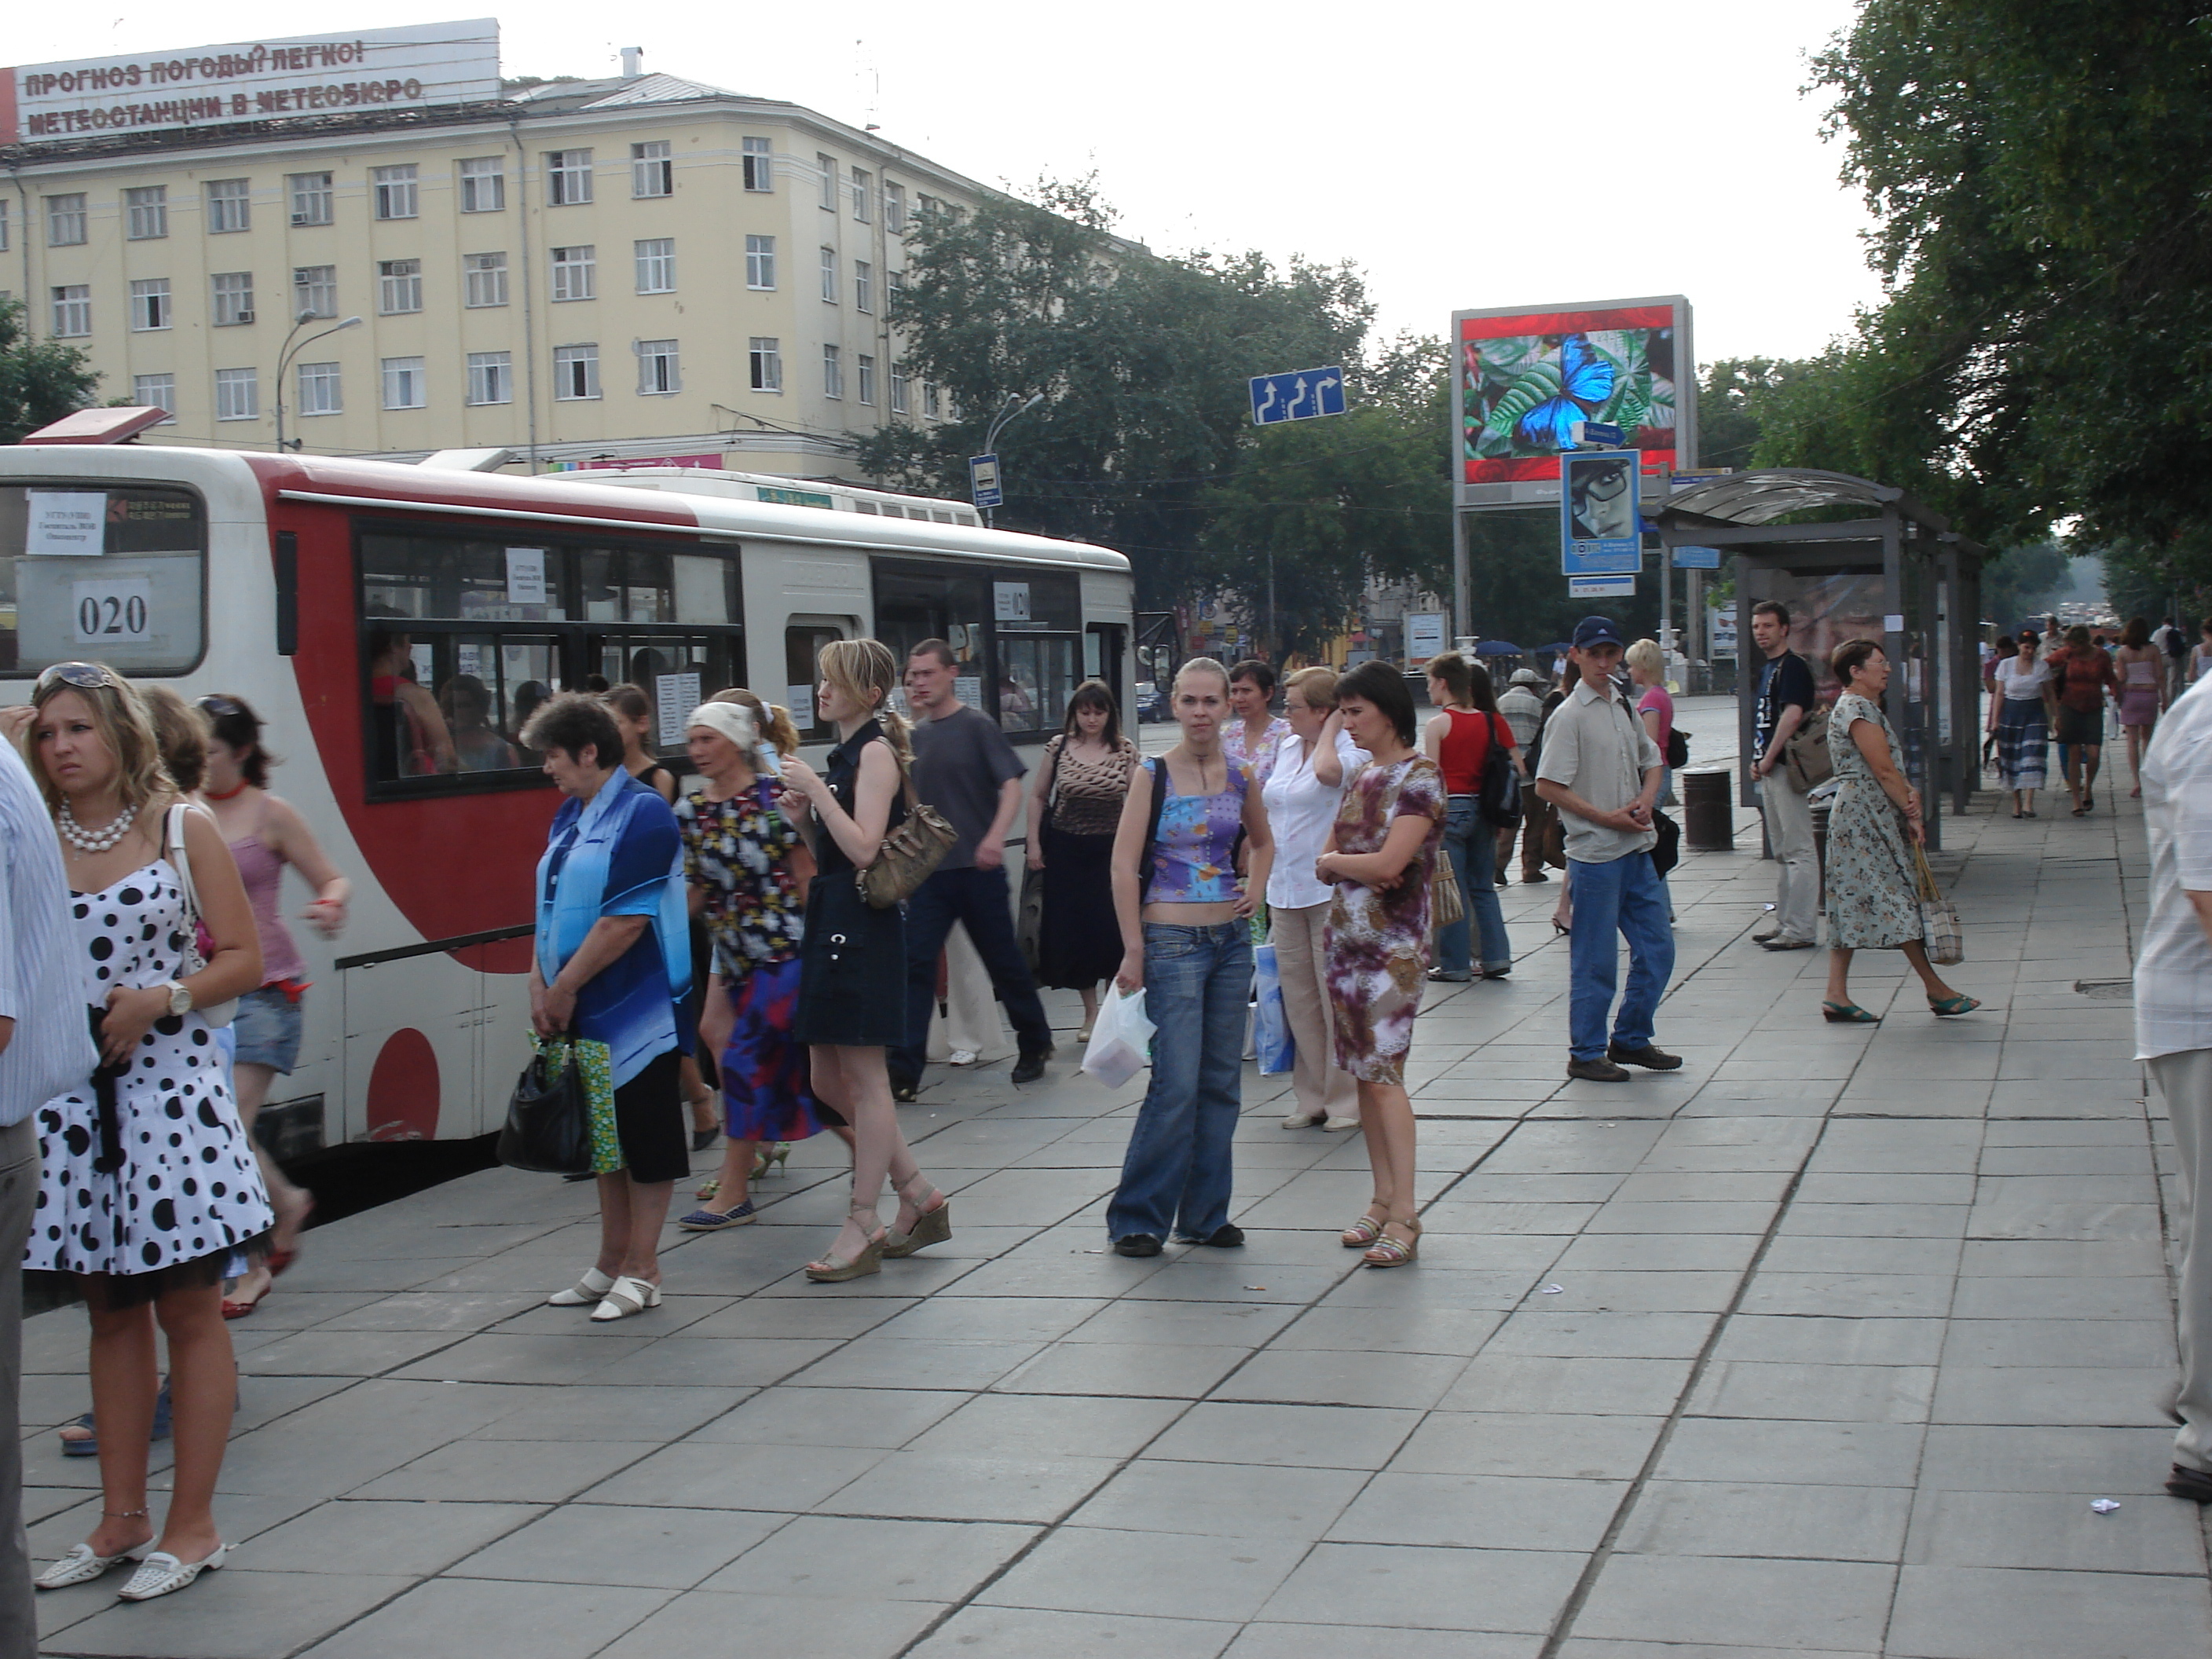
<path fill-rule="evenodd" d="M 1460 507 L 1559 498 L 1575 422 L 1621 429 L 1650 467 L 1697 462 L 1697 358 L 1679 294 L 1453 312 Z"/>

